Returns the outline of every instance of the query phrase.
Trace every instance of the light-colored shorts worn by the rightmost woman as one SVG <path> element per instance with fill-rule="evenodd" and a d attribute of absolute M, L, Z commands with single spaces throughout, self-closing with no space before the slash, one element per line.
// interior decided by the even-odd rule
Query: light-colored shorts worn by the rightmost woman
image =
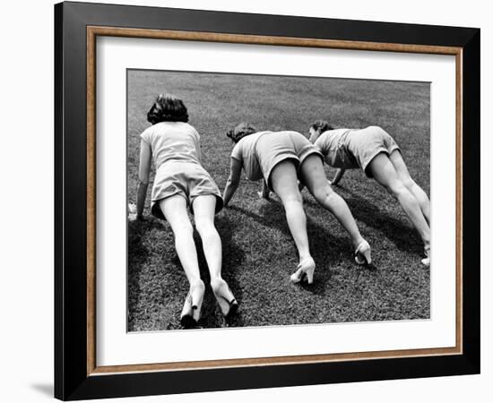
<path fill-rule="evenodd" d="M 359 167 L 368 177 L 373 177 L 368 165 L 378 154 L 392 154 L 401 150 L 389 133 L 379 126 L 368 126 L 365 129 L 351 130 L 348 150 L 358 160 Z M 368 169 L 367 169 L 368 168 Z"/>

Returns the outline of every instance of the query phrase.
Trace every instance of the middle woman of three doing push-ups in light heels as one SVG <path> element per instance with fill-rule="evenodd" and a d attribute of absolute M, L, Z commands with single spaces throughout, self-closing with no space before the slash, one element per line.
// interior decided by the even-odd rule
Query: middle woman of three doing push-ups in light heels
<path fill-rule="evenodd" d="M 227 205 L 236 192 L 242 168 L 248 179 L 264 179 L 264 197 L 267 197 L 269 189 L 279 196 L 298 249 L 299 264 L 296 272 L 291 275 L 291 281 L 298 283 L 307 279 L 308 283 L 312 283 L 315 271 L 298 180 L 307 186 L 316 201 L 331 211 L 348 231 L 356 262 L 371 262 L 369 244 L 359 234 L 348 205 L 327 183 L 320 151 L 303 134 L 257 132 L 251 124 L 242 123 L 229 131 L 228 137 L 236 145 L 231 152 L 231 171 L 224 190 L 224 203 Z"/>

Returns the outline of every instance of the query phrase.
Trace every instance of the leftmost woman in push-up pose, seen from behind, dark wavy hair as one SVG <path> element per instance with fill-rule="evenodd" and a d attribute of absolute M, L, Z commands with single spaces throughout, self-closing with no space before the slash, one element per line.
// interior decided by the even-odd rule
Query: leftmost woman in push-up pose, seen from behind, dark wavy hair
<path fill-rule="evenodd" d="M 149 110 L 147 120 L 152 125 L 141 134 L 136 219 L 143 217 L 153 157 L 156 176 L 152 185 L 151 214 L 168 220 L 175 235 L 177 255 L 190 283 L 180 320 L 185 328 L 195 327 L 205 287 L 200 278 L 194 230 L 187 208 L 194 214 L 195 227 L 202 238 L 212 291 L 221 312 L 229 316 L 238 308 L 228 284 L 221 278 L 221 238 L 214 226 L 214 214 L 222 208 L 221 192 L 200 163 L 199 134 L 186 123 L 188 114 L 181 99 L 161 94 Z"/>

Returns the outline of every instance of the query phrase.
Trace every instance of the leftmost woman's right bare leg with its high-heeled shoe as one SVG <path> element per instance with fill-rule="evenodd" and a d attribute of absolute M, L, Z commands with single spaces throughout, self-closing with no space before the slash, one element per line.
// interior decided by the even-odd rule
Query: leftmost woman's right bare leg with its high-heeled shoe
<path fill-rule="evenodd" d="M 214 226 L 215 210 L 216 197 L 214 195 L 207 194 L 195 198 L 195 227 L 202 239 L 203 254 L 211 274 L 212 291 L 221 307 L 221 312 L 224 315 L 229 315 L 231 313 L 231 303 L 236 303 L 236 300 L 228 284 L 221 277 L 222 246 L 221 237 Z"/>

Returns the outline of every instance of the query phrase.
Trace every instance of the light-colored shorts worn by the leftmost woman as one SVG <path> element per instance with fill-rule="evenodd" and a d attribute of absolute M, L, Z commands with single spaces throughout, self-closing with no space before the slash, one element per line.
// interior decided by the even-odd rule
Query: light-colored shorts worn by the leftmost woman
<path fill-rule="evenodd" d="M 218 185 L 199 164 L 173 161 L 158 168 L 152 185 L 152 215 L 158 219 L 165 219 L 160 210 L 160 201 L 175 194 L 185 197 L 192 214 L 195 198 L 206 194 L 216 196 L 216 213 L 222 209 L 223 201 Z"/>

